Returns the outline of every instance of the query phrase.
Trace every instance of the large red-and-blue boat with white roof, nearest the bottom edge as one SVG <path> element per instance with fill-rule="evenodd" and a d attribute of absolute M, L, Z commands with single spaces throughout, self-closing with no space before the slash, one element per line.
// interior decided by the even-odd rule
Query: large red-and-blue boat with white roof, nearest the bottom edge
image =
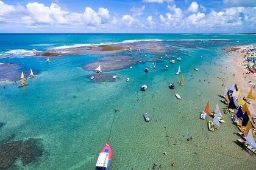
<path fill-rule="evenodd" d="M 96 163 L 96 170 L 108 170 L 112 161 L 113 149 L 110 143 L 106 143 L 105 146 L 99 152 L 99 157 Z"/>

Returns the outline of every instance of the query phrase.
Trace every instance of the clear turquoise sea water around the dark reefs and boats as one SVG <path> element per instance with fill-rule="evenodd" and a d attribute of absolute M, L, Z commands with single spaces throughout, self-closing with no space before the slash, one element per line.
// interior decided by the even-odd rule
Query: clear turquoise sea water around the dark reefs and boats
<path fill-rule="evenodd" d="M 140 39 L 165 46 L 167 53 L 158 55 L 166 54 L 166 59 L 156 69 L 152 59 L 132 69 L 112 71 L 118 77 L 115 82 L 94 83 L 87 78 L 93 72 L 81 67 L 104 55 L 60 56 L 51 58 L 51 63 L 31 57 L 52 47 Z M 1 34 L 0 63 L 20 64 L 25 75 L 32 67 L 37 77 L 23 88 L 1 83 L 5 89 L 0 88 L 0 115 L 5 126 L 0 140 L 10 134 L 16 134 L 15 140 L 41 139 L 43 156 L 26 166 L 16 161 L 18 169 L 94 169 L 107 141 L 113 147 L 110 169 L 152 169 L 154 162 L 162 169 L 172 169 L 172 162 L 176 169 L 254 168 L 255 157 L 234 143 L 238 136 L 233 132 L 238 129 L 230 115 L 222 114 L 226 123 L 215 132 L 207 128 L 212 118 L 200 120 L 199 115 L 208 100 L 211 110 L 217 103 L 224 107 L 218 97 L 223 91 L 220 78 L 229 75 L 218 71 L 228 72 L 230 66 L 221 49 L 253 44 L 255 39 L 255 35 L 218 34 Z M 144 55 L 150 58 L 154 53 L 142 51 L 140 56 Z M 172 55 L 182 61 L 173 58 L 176 64 L 169 63 Z M 184 86 L 178 86 L 180 75 L 175 75 L 179 65 Z M 149 73 L 144 73 L 145 67 Z M 234 81 L 229 77 L 224 83 Z M 176 89 L 170 90 L 169 83 L 175 83 Z M 148 85 L 145 92 L 140 91 L 142 84 Z M 143 120 L 144 112 L 151 118 L 149 123 Z M 191 136 L 193 140 L 187 141 Z"/>

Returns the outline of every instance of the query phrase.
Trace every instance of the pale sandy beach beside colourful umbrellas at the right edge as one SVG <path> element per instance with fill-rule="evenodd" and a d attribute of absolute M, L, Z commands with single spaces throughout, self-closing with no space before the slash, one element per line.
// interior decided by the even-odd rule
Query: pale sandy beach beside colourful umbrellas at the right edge
<path fill-rule="evenodd" d="M 236 83 L 238 89 L 240 89 L 240 93 L 242 97 L 247 97 L 249 91 L 253 88 L 254 84 L 256 84 L 256 75 L 253 73 L 246 74 L 247 72 L 247 54 L 248 50 L 255 49 L 255 45 L 251 46 L 241 46 L 241 47 L 232 47 L 226 49 L 228 52 L 233 55 L 233 60 L 230 60 L 231 70 L 230 75 L 231 77 L 235 77 L 233 83 Z M 233 75 L 235 74 L 235 75 Z M 228 87 L 227 87 L 228 88 Z M 255 96 L 255 90 L 253 90 Z M 255 100 L 251 100 L 252 106 L 256 109 Z"/>

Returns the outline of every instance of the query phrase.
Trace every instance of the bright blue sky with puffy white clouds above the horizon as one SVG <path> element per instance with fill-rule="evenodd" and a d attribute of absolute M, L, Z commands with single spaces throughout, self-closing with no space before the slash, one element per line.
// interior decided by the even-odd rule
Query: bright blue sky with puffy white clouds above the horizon
<path fill-rule="evenodd" d="M 0 0 L 0 33 L 255 33 L 256 0 Z"/>

